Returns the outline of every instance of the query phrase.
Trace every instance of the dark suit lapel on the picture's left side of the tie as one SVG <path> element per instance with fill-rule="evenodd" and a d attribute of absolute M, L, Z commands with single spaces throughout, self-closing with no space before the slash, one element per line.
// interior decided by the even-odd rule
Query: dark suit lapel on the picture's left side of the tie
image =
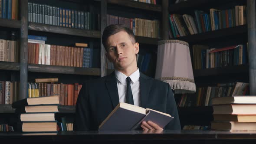
<path fill-rule="evenodd" d="M 118 88 L 116 84 L 115 72 L 112 72 L 105 81 L 108 89 L 113 109 L 119 104 Z"/>

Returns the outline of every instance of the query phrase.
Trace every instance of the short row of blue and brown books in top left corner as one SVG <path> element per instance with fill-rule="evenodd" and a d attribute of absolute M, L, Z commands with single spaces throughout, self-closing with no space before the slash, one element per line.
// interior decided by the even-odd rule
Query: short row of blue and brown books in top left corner
<path fill-rule="evenodd" d="M 19 0 L 0 0 L 0 18 L 18 20 Z"/>

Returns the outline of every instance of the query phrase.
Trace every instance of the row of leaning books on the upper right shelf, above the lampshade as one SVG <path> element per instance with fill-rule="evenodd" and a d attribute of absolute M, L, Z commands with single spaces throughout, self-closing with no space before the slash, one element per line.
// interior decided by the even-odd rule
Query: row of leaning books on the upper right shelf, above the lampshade
<path fill-rule="evenodd" d="M 211 8 L 210 13 L 195 10 L 194 13 L 194 17 L 188 14 L 170 14 L 169 36 L 177 38 L 246 24 L 246 6 L 235 6 L 228 10 Z"/>

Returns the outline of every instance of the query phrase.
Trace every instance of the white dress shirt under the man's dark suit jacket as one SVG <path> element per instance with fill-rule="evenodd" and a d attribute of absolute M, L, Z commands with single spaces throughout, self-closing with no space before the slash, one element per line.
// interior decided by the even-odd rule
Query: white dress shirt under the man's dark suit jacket
<path fill-rule="evenodd" d="M 117 79 L 117 88 L 118 88 L 118 96 L 119 96 L 119 102 L 126 102 L 126 76 L 125 74 L 115 70 L 115 77 Z M 133 72 L 130 76 L 131 78 L 131 92 L 133 96 L 134 105 L 140 106 L 141 105 L 141 97 L 140 97 L 140 71 L 137 69 L 135 72 Z"/>

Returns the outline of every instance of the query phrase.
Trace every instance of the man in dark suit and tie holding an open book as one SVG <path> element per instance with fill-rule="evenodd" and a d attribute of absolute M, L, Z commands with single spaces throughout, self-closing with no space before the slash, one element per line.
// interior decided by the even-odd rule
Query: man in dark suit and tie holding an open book
<path fill-rule="evenodd" d="M 115 71 L 83 84 L 76 103 L 74 130 L 98 130 L 98 126 L 119 102 L 168 113 L 174 119 L 165 129 L 181 130 L 170 85 L 144 75 L 137 67 L 139 43 L 136 43 L 131 29 L 122 25 L 107 26 L 102 35 L 102 44 Z M 158 131 L 164 129 L 152 121 L 143 121 L 141 128 Z"/>

